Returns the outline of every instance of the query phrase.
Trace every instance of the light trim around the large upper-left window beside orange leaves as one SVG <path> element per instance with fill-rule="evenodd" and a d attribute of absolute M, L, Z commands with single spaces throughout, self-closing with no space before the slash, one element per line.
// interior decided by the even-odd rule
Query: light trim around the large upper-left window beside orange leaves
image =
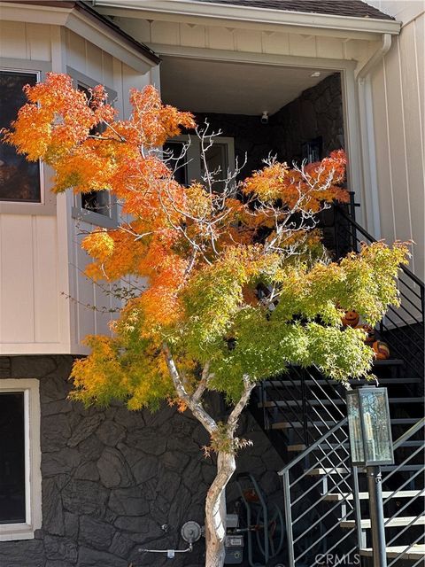
<path fill-rule="evenodd" d="M 30 73 L 36 75 L 37 82 L 43 81 L 50 71 L 50 64 L 46 61 L 31 61 L 28 59 L 0 58 L 0 69 L 11 73 Z M 39 161 L 40 169 L 40 201 L 2 201 L 0 200 L 0 214 L 54 214 L 56 210 L 56 197 L 46 187 L 46 165 Z"/>

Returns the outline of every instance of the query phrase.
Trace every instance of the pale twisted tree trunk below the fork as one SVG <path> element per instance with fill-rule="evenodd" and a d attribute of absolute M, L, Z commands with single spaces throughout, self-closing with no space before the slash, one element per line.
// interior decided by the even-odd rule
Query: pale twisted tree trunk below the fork
<path fill-rule="evenodd" d="M 226 485 L 236 470 L 235 455 L 219 452 L 217 475 L 205 501 L 205 567 L 223 567 L 226 537 Z"/>

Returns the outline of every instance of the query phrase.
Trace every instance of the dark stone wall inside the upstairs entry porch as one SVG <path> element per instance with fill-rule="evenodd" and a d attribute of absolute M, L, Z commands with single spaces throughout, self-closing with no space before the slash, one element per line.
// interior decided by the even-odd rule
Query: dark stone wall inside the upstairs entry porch
<path fill-rule="evenodd" d="M 240 179 L 263 167 L 268 154 L 282 161 L 298 162 L 303 158 L 302 145 L 321 136 L 322 157 L 344 148 L 344 115 L 341 78 L 332 74 L 270 116 L 267 125 L 259 116 L 243 114 L 197 114 L 197 123 L 208 120 L 214 131 L 235 139 L 239 164 L 247 154 Z"/>

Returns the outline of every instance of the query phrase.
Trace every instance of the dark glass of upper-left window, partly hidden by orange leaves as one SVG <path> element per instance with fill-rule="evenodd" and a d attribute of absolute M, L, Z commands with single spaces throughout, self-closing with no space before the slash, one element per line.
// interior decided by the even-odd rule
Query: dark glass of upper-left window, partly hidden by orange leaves
<path fill-rule="evenodd" d="M 0 71 L 0 128 L 9 128 L 19 108 L 27 102 L 22 92 L 34 85 L 34 73 Z M 0 200 L 40 203 L 40 164 L 30 163 L 11 145 L 0 144 Z"/>

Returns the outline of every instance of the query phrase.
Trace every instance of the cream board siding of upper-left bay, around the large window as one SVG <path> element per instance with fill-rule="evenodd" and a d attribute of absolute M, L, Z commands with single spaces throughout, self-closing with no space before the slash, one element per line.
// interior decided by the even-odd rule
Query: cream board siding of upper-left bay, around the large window
<path fill-rule="evenodd" d="M 102 83 L 121 116 L 129 114 L 128 90 L 151 82 L 151 72 L 58 26 L 0 22 L 0 57 L 2 67 L 34 70 L 39 62 L 42 73 L 74 71 Z M 92 307 L 107 311 L 116 301 L 83 276 L 81 233 L 97 226 L 74 218 L 71 193 L 51 195 L 51 175 L 44 167 L 42 205 L 0 202 L 0 354 L 87 353 L 82 338 L 110 333 L 112 314 Z"/>

